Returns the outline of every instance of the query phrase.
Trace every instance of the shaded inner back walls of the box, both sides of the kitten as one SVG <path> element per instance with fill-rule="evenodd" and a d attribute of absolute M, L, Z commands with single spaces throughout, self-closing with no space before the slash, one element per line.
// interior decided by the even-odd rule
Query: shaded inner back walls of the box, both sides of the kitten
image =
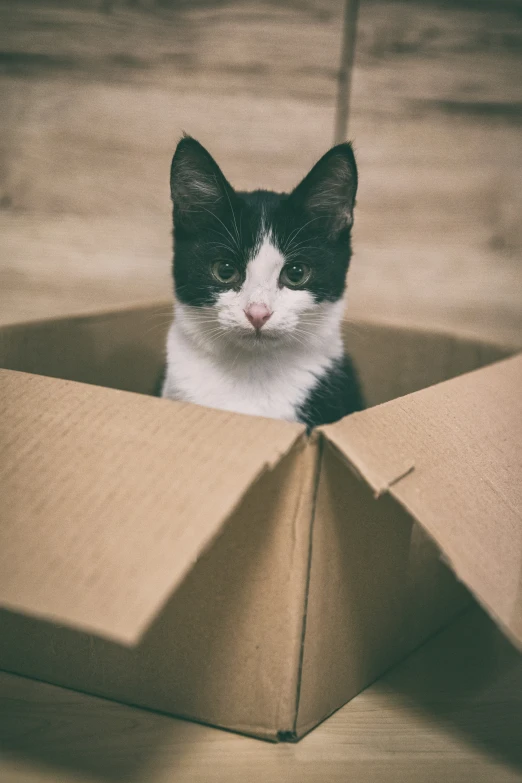
<path fill-rule="evenodd" d="M 0 328 L 0 367 L 145 394 L 165 356 L 172 303 Z M 344 338 L 368 405 L 423 389 L 509 355 L 508 349 L 389 324 L 354 321 Z M 513 351 L 511 351 L 513 353 Z"/>

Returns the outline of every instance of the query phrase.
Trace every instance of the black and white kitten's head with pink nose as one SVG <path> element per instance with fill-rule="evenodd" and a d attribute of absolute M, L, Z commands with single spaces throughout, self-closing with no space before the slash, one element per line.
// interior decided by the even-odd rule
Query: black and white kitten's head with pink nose
<path fill-rule="evenodd" d="M 185 136 L 170 184 L 176 301 L 202 345 L 297 348 L 339 321 L 357 191 L 350 144 L 327 152 L 289 195 L 239 193 Z"/>

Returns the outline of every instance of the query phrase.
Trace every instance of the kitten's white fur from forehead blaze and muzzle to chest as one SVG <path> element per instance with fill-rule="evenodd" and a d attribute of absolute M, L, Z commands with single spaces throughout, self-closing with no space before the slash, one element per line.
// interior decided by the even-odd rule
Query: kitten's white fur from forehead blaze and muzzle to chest
<path fill-rule="evenodd" d="M 343 353 L 344 302 L 317 304 L 308 291 L 281 287 L 284 263 L 265 233 L 240 291 L 225 291 L 212 307 L 176 302 L 163 397 L 296 420 L 318 377 Z M 272 312 L 259 334 L 245 315 L 251 304 Z"/>

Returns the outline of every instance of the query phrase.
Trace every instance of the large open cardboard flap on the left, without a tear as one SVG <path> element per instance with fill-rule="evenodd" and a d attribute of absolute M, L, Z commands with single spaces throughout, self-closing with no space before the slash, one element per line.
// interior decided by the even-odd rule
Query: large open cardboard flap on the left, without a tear
<path fill-rule="evenodd" d="M 302 433 L 0 371 L 0 604 L 135 642 Z"/>

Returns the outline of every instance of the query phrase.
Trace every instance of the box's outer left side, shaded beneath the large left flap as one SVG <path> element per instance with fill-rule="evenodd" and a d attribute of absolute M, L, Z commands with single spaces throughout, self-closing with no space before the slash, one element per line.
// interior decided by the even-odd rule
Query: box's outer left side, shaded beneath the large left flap
<path fill-rule="evenodd" d="M 4 611 L 0 665 L 256 736 L 290 732 L 315 470 L 315 447 L 298 445 L 266 472 L 136 647 Z"/>

